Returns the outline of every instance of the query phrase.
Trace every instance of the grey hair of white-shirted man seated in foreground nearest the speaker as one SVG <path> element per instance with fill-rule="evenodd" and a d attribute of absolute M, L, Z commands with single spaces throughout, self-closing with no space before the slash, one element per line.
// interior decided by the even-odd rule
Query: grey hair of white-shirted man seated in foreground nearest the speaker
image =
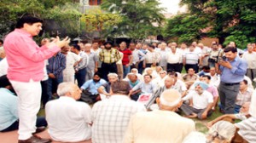
<path fill-rule="evenodd" d="M 74 83 L 70 83 L 70 82 L 60 83 L 57 89 L 57 94 L 59 96 L 65 96 L 65 94 L 67 93 L 73 93 L 74 92 L 73 85 Z"/>

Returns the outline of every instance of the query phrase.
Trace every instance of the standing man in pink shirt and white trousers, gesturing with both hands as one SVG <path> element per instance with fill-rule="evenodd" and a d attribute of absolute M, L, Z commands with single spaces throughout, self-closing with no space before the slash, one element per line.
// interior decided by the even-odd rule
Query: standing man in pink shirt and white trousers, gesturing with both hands
<path fill-rule="evenodd" d="M 41 84 L 44 77 L 44 60 L 49 59 L 68 44 L 66 37 L 39 48 L 32 37 L 42 30 L 43 20 L 32 16 L 24 16 L 18 20 L 15 31 L 7 35 L 4 49 L 9 64 L 8 78 L 18 94 L 18 112 L 20 117 L 19 143 L 46 143 L 50 140 L 33 136 L 37 113 L 40 108 Z"/>

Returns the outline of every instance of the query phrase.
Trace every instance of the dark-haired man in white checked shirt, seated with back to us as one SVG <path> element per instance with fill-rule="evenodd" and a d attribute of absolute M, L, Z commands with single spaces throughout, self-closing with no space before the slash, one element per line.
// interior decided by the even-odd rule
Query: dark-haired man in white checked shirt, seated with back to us
<path fill-rule="evenodd" d="M 146 111 L 143 104 L 128 97 L 129 88 L 128 82 L 114 82 L 110 98 L 93 106 L 92 142 L 121 142 L 131 116 Z"/>

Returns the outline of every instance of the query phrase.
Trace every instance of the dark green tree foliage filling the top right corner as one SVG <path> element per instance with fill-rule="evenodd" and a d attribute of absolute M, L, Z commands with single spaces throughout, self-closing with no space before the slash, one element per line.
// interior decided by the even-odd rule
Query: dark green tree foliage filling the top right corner
<path fill-rule="evenodd" d="M 235 41 L 239 47 L 245 47 L 246 43 L 256 40 L 256 1 L 255 0 L 181 0 L 181 4 L 186 4 L 189 9 L 188 14 L 177 15 L 167 21 L 165 35 L 173 37 L 171 31 L 176 32 L 176 37 L 183 42 L 187 39 L 201 39 L 201 36 L 218 37 L 220 43 L 229 43 Z M 195 20 L 187 21 L 190 24 L 183 23 L 188 17 L 197 16 L 201 23 Z M 203 20 L 202 20 L 203 19 Z M 173 20 L 180 26 L 172 26 Z M 189 30 L 190 28 L 199 29 L 198 31 Z M 182 32 L 187 27 L 188 32 Z M 207 27 L 207 31 L 201 32 Z M 201 30 L 200 30 L 201 29 Z M 182 33 L 181 33 L 182 32 Z M 170 34 L 172 33 L 172 34 Z M 187 38 L 187 39 L 186 39 Z"/>

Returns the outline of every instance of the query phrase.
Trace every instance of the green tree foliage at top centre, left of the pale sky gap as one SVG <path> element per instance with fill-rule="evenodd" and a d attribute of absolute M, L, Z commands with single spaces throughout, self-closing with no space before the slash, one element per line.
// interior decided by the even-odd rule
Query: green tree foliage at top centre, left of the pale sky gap
<path fill-rule="evenodd" d="M 165 20 L 164 9 L 159 8 L 156 0 L 106 0 L 102 9 L 113 14 L 120 14 L 123 20 L 113 30 L 114 36 L 128 36 L 143 39 L 160 33 L 160 26 Z"/>

